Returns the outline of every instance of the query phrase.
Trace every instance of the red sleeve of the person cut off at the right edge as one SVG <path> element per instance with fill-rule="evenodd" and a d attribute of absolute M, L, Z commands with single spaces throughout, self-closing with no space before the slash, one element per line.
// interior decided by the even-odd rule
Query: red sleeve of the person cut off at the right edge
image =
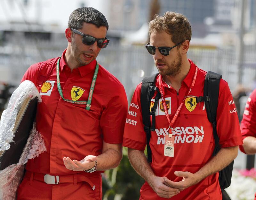
<path fill-rule="evenodd" d="M 253 90 L 252 94 L 249 96 L 247 103 L 245 105 L 243 119 L 240 125 L 243 139 L 248 136 L 256 137 L 255 124 L 256 124 L 256 89 Z M 242 152 L 244 152 L 244 148 L 242 145 L 240 145 L 239 148 Z"/>

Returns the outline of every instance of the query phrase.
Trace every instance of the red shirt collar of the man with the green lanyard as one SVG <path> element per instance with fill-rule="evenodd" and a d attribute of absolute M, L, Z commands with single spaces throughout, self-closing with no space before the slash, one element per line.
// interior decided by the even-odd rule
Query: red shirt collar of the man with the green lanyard
<path fill-rule="evenodd" d="M 63 51 L 62 56 L 60 58 L 60 70 L 61 71 L 63 71 L 65 68 L 68 67 L 68 65 L 67 65 L 67 63 L 64 59 L 66 51 L 67 51 L 67 49 L 65 49 L 65 51 Z M 88 65 L 83 65 L 83 66 L 81 66 L 79 68 L 76 68 L 76 69 L 73 69 L 73 70 L 78 70 L 80 76 L 83 77 L 84 75 L 87 75 L 90 72 L 92 72 L 93 70 L 95 70 L 96 63 L 97 63 L 97 61 L 96 61 L 96 59 L 94 59 Z"/>

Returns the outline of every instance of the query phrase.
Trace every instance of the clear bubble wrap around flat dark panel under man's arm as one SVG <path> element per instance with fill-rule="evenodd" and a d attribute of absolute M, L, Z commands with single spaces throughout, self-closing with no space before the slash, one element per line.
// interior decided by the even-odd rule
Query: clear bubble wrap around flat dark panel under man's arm
<path fill-rule="evenodd" d="M 13 142 L 14 132 L 12 130 L 21 103 L 27 97 L 33 98 L 34 96 L 38 97 L 38 102 L 42 101 L 38 90 L 30 81 L 22 82 L 13 92 L 8 107 L 4 110 L 0 122 L 0 151 L 8 150 L 10 148 L 10 142 Z M 44 151 L 46 151 L 46 147 L 43 136 L 36 131 L 34 124 L 19 162 L 0 171 L 1 200 L 12 200 L 16 198 L 17 188 L 24 175 L 25 164 L 28 162 L 28 159 L 33 159 Z"/>

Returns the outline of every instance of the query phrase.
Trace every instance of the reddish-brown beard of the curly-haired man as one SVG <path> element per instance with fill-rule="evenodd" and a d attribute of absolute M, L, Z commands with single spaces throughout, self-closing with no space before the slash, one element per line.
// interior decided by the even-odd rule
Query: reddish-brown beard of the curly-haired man
<path fill-rule="evenodd" d="M 175 77 L 181 71 L 182 57 L 181 57 L 180 53 L 178 53 L 176 60 L 171 64 L 165 63 L 161 59 L 157 60 L 157 62 L 164 63 L 167 66 L 167 69 L 166 68 L 165 69 L 158 69 L 157 66 L 156 66 L 156 68 L 158 69 L 159 74 L 161 74 L 162 76 Z"/>

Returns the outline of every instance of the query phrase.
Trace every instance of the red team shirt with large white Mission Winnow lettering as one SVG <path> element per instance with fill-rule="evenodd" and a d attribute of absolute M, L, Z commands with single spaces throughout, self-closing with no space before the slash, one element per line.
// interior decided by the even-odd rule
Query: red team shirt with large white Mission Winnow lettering
<path fill-rule="evenodd" d="M 188 94 L 196 66 L 191 63 L 188 75 L 183 80 L 179 92 L 168 86 L 163 80 L 156 79 L 156 86 L 161 81 L 164 89 L 170 119 L 178 109 L 184 97 Z M 150 147 L 152 150 L 151 168 L 157 176 L 166 176 L 172 181 L 181 181 L 182 177 L 174 175 L 174 171 L 197 172 L 212 157 L 215 146 L 212 124 L 208 121 L 204 102 L 196 104 L 195 97 L 203 96 L 206 72 L 198 69 L 196 82 L 186 97 L 180 114 L 173 125 L 172 135 L 175 137 L 174 157 L 164 156 L 164 136 L 168 134 L 169 123 L 164 113 L 162 99 L 159 99 L 156 111 L 156 129 L 151 132 Z M 140 108 L 141 83 L 135 89 L 127 115 L 123 146 L 144 151 L 146 133 L 142 122 Z M 153 96 L 151 104 L 154 103 Z M 238 146 L 242 144 L 238 116 L 228 83 L 221 79 L 220 94 L 217 109 L 217 132 L 221 147 Z M 164 199 L 151 189 L 147 182 L 141 187 L 140 199 Z M 221 199 L 218 173 L 206 177 L 198 184 L 191 186 L 172 199 Z"/>

